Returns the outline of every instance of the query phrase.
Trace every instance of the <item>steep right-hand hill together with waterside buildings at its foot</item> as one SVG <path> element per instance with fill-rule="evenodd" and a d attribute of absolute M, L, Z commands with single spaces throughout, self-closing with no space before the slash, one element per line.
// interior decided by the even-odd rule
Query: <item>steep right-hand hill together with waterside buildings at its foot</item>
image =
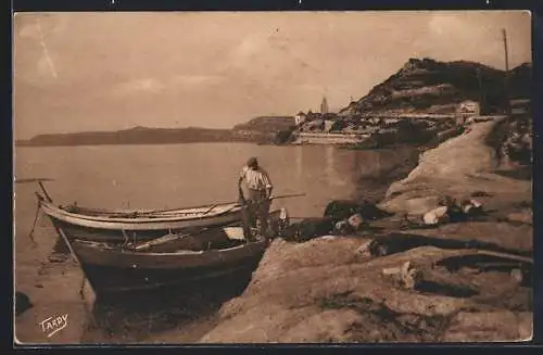
<path fill-rule="evenodd" d="M 326 98 L 320 112 L 299 112 L 290 135 L 281 132 L 278 141 L 359 148 L 426 144 L 459 134 L 470 117 L 502 115 L 509 107 L 513 114 L 529 114 L 530 75 L 531 64 L 505 73 L 473 62 L 409 59 L 337 113 L 328 112 Z M 504 97 L 506 84 L 509 100 Z"/>

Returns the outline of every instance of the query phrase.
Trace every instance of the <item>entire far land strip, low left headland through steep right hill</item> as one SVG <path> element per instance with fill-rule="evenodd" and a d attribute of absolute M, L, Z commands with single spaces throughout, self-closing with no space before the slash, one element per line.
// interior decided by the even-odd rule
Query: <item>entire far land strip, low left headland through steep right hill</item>
<path fill-rule="evenodd" d="M 343 136 L 353 135 L 377 137 L 379 141 L 383 141 L 381 138 L 388 135 L 391 137 L 386 141 L 393 143 L 396 140 L 396 130 L 400 129 L 396 127 L 399 121 L 409 123 L 406 130 L 412 132 L 412 136 L 421 137 L 424 131 L 431 131 L 430 135 L 424 135 L 429 139 L 430 136 L 450 128 L 463 102 L 476 104 L 476 115 L 504 114 L 507 112 L 509 100 L 529 102 L 531 75 L 530 63 L 505 72 L 475 62 L 409 59 L 396 73 L 376 85 L 365 97 L 351 100 L 348 106 L 337 113 L 328 112 L 328 103 L 324 99 L 320 113 L 308 111 L 292 116 L 261 116 L 231 129 L 134 127 L 117 131 L 38 135 L 28 140 L 17 140 L 15 145 L 195 142 L 273 144 L 291 143 L 312 135 L 342 135 L 340 141 L 344 140 Z M 432 123 L 435 119 L 440 122 L 438 126 L 443 127 L 437 129 Z M 424 121 L 429 122 L 426 126 L 430 128 L 422 127 Z M 413 129 L 412 123 L 416 123 L 420 129 Z M 405 125 L 400 123 L 400 126 Z"/>

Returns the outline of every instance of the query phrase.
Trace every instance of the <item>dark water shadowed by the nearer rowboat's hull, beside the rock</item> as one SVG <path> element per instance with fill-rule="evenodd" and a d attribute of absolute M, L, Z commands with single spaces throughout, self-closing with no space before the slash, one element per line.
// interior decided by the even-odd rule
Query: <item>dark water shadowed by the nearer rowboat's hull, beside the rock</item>
<path fill-rule="evenodd" d="M 213 328 L 220 306 L 240 295 L 250 278 L 245 272 L 198 284 L 97 300 L 83 342 L 155 342 L 164 341 L 168 332 L 168 342 L 197 342 Z M 186 331 L 197 322 L 201 325 L 198 331 Z"/>

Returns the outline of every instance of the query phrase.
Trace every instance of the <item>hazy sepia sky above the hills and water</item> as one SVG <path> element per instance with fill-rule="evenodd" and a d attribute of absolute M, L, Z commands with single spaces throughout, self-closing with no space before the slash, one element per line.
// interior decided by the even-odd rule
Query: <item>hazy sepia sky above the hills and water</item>
<path fill-rule="evenodd" d="M 501 28 L 531 61 L 527 12 L 16 14 L 15 138 L 340 109 L 409 58 L 504 68 Z"/>

